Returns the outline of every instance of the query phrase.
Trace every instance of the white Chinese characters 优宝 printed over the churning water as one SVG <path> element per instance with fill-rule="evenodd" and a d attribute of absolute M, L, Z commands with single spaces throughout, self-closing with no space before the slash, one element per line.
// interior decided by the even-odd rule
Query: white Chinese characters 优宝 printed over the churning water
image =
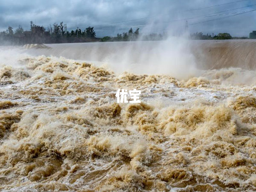
<path fill-rule="evenodd" d="M 120 89 L 117 90 L 116 92 L 116 99 L 117 103 L 128 103 L 127 97 L 130 97 L 131 101 L 130 103 L 140 103 L 140 90 L 134 89 L 134 90 L 129 90 L 129 94 L 127 90 L 122 89 L 120 92 Z"/>

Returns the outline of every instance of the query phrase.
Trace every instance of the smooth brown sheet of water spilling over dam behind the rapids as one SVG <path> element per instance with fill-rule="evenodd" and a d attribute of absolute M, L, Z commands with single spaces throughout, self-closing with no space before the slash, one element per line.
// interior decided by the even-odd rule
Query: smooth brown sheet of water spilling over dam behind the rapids
<path fill-rule="evenodd" d="M 194 40 L 177 44 L 175 39 L 170 39 L 168 42 L 47 44 L 52 49 L 34 49 L 30 52 L 38 55 L 63 56 L 70 59 L 119 63 L 129 57 L 129 63 L 150 63 L 152 58 L 163 56 L 163 52 L 166 54 L 169 51 L 169 54 L 172 55 L 173 49 L 180 50 L 180 45 L 185 49 L 184 54 L 192 53 L 197 67 L 201 69 L 228 67 L 240 67 L 245 70 L 256 69 L 256 40 Z M 169 49 L 166 50 L 166 47 Z M 147 57 L 145 53 L 148 54 Z"/>

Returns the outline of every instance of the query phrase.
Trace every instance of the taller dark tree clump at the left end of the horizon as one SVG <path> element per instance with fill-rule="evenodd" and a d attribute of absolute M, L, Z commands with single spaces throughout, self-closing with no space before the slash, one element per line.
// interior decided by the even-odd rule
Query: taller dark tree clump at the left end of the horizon
<path fill-rule="evenodd" d="M 23 44 L 51 44 L 51 43 L 80 43 L 100 41 L 96 38 L 96 32 L 89 26 L 84 30 L 76 29 L 67 31 L 63 22 L 53 23 L 46 30 L 43 26 L 30 22 L 30 30 L 24 31 L 19 26 L 15 31 L 9 26 L 6 31 L 0 32 L 0 43 L 6 45 Z"/>

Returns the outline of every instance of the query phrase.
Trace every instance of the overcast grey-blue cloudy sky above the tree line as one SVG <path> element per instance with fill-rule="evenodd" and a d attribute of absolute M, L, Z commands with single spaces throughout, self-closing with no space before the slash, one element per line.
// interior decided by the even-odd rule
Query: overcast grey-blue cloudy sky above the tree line
<path fill-rule="evenodd" d="M 19 25 L 29 30 L 31 20 L 46 29 L 61 21 L 68 31 L 94 26 L 99 37 L 130 27 L 176 35 L 186 20 L 190 33 L 248 36 L 256 30 L 256 0 L 0 0 L 1 31 Z"/>

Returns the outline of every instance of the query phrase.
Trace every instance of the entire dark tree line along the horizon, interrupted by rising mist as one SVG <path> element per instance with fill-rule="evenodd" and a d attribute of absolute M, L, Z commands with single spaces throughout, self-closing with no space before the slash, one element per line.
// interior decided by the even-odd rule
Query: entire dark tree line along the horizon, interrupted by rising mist
<path fill-rule="evenodd" d="M 195 40 L 213 40 L 213 39 L 239 39 L 232 37 L 229 33 L 219 33 L 218 35 L 204 35 L 202 32 L 190 34 L 189 37 Z M 81 43 L 81 42 L 107 42 L 107 41 L 160 41 L 167 38 L 167 35 L 151 33 L 141 35 L 140 28 L 135 31 L 131 28 L 128 32 L 117 34 L 115 37 L 105 36 L 97 38 L 94 28 L 89 26 L 86 29 L 76 29 L 67 31 L 67 25 L 53 23 L 47 29 L 43 26 L 35 25 L 30 22 L 30 30 L 24 31 L 22 26 L 13 29 L 11 26 L 6 31 L 0 32 L 0 44 L 3 45 L 23 45 L 23 44 L 55 44 L 55 43 Z M 242 37 L 240 39 L 245 39 Z"/>

